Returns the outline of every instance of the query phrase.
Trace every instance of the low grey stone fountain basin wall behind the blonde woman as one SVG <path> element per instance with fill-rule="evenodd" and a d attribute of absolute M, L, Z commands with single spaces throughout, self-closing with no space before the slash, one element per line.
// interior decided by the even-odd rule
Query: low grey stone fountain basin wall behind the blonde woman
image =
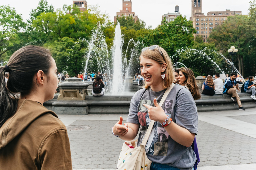
<path fill-rule="evenodd" d="M 238 93 L 242 106 L 255 108 L 255 100 L 250 98 L 248 93 Z M 196 100 L 198 112 L 225 111 L 238 109 L 236 102 L 231 100 L 231 96 L 223 95 L 201 95 L 202 98 Z M 87 114 L 128 114 L 132 96 L 86 96 L 83 101 L 60 101 L 57 96 L 44 103 L 44 106 L 54 111 L 56 114 L 67 115 L 87 115 Z"/>

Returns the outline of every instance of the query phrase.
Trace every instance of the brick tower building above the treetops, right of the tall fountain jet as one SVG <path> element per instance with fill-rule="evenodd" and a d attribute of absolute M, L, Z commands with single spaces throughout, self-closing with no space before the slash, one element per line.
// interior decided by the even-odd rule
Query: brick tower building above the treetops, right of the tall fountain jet
<path fill-rule="evenodd" d="M 132 0 L 123 0 L 123 10 L 116 13 L 116 18 L 121 16 L 132 16 L 135 19 L 135 22 L 138 20 L 138 16 L 135 15 L 135 12 L 132 12 Z"/>

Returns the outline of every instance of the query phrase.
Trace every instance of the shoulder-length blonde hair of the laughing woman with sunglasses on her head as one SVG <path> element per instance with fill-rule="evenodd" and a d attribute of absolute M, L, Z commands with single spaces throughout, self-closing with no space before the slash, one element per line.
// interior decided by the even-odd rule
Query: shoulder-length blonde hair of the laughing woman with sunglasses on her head
<path fill-rule="evenodd" d="M 159 52 L 158 48 L 155 48 L 153 50 L 145 50 L 145 51 L 141 52 L 140 59 L 143 56 L 145 58 L 152 59 L 152 60 L 158 62 L 160 65 L 163 63 L 166 63 L 167 66 L 166 66 L 165 71 L 163 72 L 163 73 L 165 73 L 165 79 L 163 80 L 163 88 L 166 89 L 173 83 L 173 80 L 174 80 L 172 61 L 171 61 L 169 55 L 167 54 L 167 52 L 162 47 L 159 46 L 159 48 L 160 48 L 161 52 L 163 53 L 163 56 Z M 161 76 L 161 75 L 159 75 L 159 76 Z M 149 86 L 146 83 L 143 86 L 143 88 L 146 88 L 146 89 L 148 87 Z"/>

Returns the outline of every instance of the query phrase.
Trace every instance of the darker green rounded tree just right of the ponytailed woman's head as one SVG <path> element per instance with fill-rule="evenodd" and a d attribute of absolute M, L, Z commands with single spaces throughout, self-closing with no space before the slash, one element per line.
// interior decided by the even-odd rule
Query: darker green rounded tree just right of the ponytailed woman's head
<path fill-rule="evenodd" d="M 68 74 L 73 77 L 84 70 L 85 45 L 84 40 L 75 42 L 72 38 L 64 37 L 49 44 L 45 44 L 45 47 L 51 50 L 58 71 L 68 72 Z"/>

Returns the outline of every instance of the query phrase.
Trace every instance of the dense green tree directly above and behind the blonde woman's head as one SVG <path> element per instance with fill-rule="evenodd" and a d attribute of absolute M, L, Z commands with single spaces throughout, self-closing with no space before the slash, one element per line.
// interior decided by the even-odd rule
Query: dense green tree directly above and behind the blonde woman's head
<path fill-rule="evenodd" d="M 178 49 L 192 47 L 194 33 L 196 30 L 193 28 L 192 21 L 188 21 L 186 17 L 180 15 L 174 21 L 159 25 L 152 30 L 145 36 L 143 42 L 146 46 L 158 44 L 169 55 L 173 55 Z"/>

